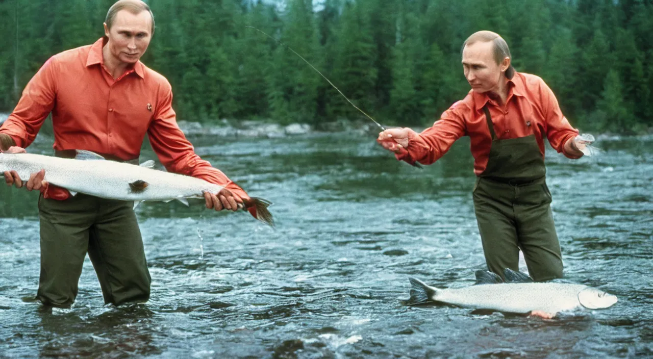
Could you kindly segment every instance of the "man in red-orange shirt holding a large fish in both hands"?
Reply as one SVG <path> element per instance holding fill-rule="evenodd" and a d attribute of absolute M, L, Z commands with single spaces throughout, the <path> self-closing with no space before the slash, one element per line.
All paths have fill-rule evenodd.
<path fill-rule="evenodd" d="M 247 193 L 195 154 L 176 123 L 168 80 L 140 62 L 154 29 L 146 3 L 121 0 L 112 5 L 103 38 L 54 55 L 29 81 L 0 128 L 0 148 L 24 152 L 50 112 L 59 157 L 86 149 L 112 161 L 138 164 L 147 134 L 169 172 L 225 187 L 219 193 L 204 193 L 206 208 L 242 209 Z M 45 305 L 71 305 L 88 252 L 106 303 L 146 302 L 151 279 L 133 204 L 71 196 L 43 179 L 44 170 L 32 174 L 27 183 L 15 171 L 5 172 L 8 185 L 41 192 L 37 298 Z M 251 213 L 256 217 L 255 211 Z"/>

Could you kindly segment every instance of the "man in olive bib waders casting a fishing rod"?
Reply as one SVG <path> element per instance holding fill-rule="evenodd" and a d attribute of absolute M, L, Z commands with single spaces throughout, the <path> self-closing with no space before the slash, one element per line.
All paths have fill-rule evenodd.
<path fill-rule="evenodd" d="M 505 40 L 479 31 L 462 46 L 468 95 L 422 133 L 387 129 L 377 142 L 407 163 L 432 164 L 454 141 L 470 136 L 477 180 L 476 219 L 488 268 L 518 270 L 521 249 L 535 281 L 562 277 L 560 243 L 545 181 L 546 137 L 552 148 L 578 159 L 590 141 L 562 115 L 545 82 L 516 72 Z"/>

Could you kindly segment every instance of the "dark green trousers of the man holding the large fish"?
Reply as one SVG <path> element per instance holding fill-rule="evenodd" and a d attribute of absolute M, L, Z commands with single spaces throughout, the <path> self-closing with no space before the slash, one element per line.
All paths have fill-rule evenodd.
<path fill-rule="evenodd" d="M 41 266 L 37 298 L 67 307 L 88 253 L 105 303 L 146 302 L 150 272 L 133 202 L 82 195 L 39 198 Z"/>

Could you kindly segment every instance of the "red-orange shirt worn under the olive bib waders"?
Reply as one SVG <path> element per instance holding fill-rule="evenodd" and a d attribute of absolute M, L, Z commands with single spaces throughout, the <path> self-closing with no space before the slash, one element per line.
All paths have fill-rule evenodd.
<path fill-rule="evenodd" d="M 432 164 L 442 157 L 455 140 L 470 136 L 471 154 L 474 157 L 474 173 L 479 176 L 485 170 L 490 154 L 492 136 L 485 119 L 483 106 L 488 105 L 494 132 L 499 140 L 519 138 L 535 134 L 542 157 L 544 138 L 552 148 L 569 158 L 578 158 L 568 152 L 565 143 L 578 135 L 562 115 L 555 95 L 545 82 L 532 74 L 516 72 L 508 81 L 509 91 L 504 106 L 490 99 L 485 93 L 470 91 L 468 95 L 446 110 L 432 127 L 408 136 L 406 150 L 397 159 L 413 163 Z"/>

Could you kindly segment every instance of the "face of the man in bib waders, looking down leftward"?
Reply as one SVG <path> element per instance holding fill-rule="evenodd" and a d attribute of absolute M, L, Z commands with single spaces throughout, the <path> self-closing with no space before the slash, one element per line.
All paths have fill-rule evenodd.
<path fill-rule="evenodd" d="M 508 69 L 510 59 L 494 61 L 494 43 L 477 41 L 462 50 L 462 69 L 471 89 L 477 93 L 498 92 L 502 72 Z"/>

